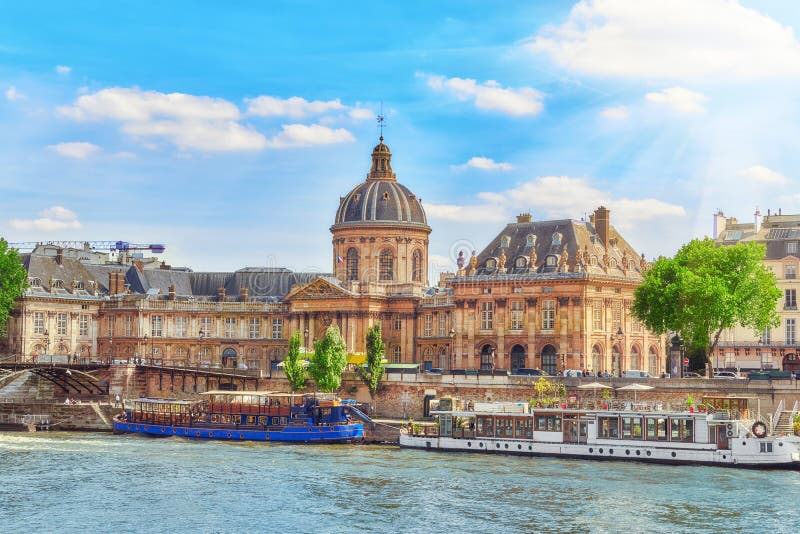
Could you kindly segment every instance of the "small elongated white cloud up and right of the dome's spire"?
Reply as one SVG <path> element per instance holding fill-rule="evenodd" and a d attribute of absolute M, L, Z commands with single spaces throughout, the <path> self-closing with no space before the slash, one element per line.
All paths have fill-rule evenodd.
<path fill-rule="evenodd" d="M 542 111 L 542 94 L 531 87 L 502 87 L 494 80 L 483 84 L 469 78 L 422 75 L 428 87 L 444 91 L 462 101 L 473 100 L 475 107 L 515 117 L 537 115 Z"/>

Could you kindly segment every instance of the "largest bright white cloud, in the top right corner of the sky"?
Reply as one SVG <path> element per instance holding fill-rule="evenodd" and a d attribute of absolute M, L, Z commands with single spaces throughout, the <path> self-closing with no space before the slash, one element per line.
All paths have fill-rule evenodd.
<path fill-rule="evenodd" d="M 587 74 L 670 79 L 800 75 L 790 26 L 736 0 L 582 0 L 526 45 Z"/>

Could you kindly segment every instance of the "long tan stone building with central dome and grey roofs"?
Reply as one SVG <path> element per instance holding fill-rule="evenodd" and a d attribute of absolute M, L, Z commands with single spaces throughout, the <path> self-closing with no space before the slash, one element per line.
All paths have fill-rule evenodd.
<path fill-rule="evenodd" d="M 367 329 L 381 321 L 393 363 L 661 372 L 663 340 L 628 313 L 646 264 L 609 210 L 598 208 L 588 221 L 520 215 L 431 287 L 431 228 L 391 157 L 381 137 L 366 179 L 339 199 L 331 274 L 202 273 L 71 251 L 26 255 L 32 283 L 11 320 L 12 351 L 265 369 L 283 359 L 294 331 L 310 351 L 337 325 L 348 351 L 363 353 Z M 66 329 L 63 313 L 74 321 Z M 64 346 L 53 346 L 53 332 L 67 332 Z"/>

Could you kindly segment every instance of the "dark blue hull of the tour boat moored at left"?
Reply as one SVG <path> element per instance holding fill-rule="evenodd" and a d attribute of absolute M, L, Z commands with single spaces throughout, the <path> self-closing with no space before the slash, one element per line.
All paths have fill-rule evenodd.
<path fill-rule="evenodd" d="M 279 430 L 253 430 L 224 427 L 169 426 L 148 423 L 114 421 L 118 433 L 146 434 L 150 436 L 180 436 L 192 439 L 225 441 L 293 441 L 300 443 L 337 443 L 360 440 L 364 425 L 350 423 L 330 426 L 287 426 Z"/>

